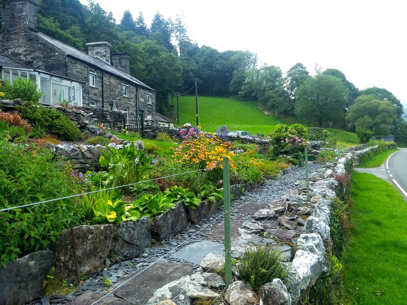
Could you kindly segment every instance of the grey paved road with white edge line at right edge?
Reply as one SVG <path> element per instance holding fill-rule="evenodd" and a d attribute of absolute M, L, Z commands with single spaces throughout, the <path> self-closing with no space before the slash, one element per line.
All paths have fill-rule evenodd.
<path fill-rule="evenodd" d="M 387 159 L 385 166 L 391 182 L 407 198 L 407 149 L 396 151 Z"/>

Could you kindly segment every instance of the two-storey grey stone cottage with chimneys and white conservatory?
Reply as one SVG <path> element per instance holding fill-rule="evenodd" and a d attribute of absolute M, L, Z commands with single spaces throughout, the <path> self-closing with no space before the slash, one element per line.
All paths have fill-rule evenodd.
<path fill-rule="evenodd" d="M 111 54 L 108 42 L 86 44 L 88 53 L 37 29 L 37 0 L 0 0 L 2 79 L 31 79 L 44 105 L 70 101 L 75 106 L 117 109 L 125 123 L 142 127 L 156 119 L 155 90 L 130 75 L 130 55 Z"/>

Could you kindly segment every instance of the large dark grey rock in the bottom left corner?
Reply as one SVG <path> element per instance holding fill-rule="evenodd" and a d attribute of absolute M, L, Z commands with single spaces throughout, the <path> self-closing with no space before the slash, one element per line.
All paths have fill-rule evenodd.
<path fill-rule="evenodd" d="M 38 251 L 0 266 L 0 304 L 30 302 L 43 289 L 42 283 L 54 264 L 52 251 Z"/>

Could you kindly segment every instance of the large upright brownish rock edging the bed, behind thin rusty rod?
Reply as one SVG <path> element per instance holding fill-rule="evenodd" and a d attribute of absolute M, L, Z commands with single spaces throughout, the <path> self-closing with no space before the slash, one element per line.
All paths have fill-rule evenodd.
<path fill-rule="evenodd" d="M 115 225 L 78 226 L 74 228 L 79 272 L 90 273 L 103 266 L 111 247 Z M 64 280 L 75 275 L 71 229 L 61 232 L 52 246 L 55 257 L 54 277 Z"/>

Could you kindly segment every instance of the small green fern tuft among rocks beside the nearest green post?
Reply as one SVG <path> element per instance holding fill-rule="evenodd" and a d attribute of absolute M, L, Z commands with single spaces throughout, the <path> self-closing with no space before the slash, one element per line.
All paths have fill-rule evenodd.
<path fill-rule="evenodd" d="M 277 248 L 247 248 L 237 264 L 238 275 L 257 290 L 261 285 L 273 282 L 273 279 L 285 280 L 290 267 L 283 266 L 281 261 Z"/>

